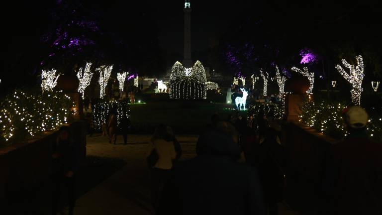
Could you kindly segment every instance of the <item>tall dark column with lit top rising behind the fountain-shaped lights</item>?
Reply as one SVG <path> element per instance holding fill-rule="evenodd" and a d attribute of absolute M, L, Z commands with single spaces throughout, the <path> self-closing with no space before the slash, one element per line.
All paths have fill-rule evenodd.
<path fill-rule="evenodd" d="M 191 59 L 191 3 L 190 0 L 185 0 L 185 38 L 184 38 L 184 53 L 183 53 L 183 65 L 186 68 L 192 66 Z"/>

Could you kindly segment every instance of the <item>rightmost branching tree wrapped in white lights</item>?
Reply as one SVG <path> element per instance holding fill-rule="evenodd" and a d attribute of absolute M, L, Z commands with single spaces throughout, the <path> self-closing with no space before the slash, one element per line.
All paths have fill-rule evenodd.
<path fill-rule="evenodd" d="M 341 65 L 337 64 L 336 69 L 341 75 L 352 84 L 353 89 L 350 91 L 352 94 L 352 102 L 354 105 L 361 105 L 361 92 L 362 89 L 362 80 L 364 79 L 364 61 L 361 55 L 357 56 L 357 66 L 349 64 L 345 59 L 342 59 L 342 63 L 345 67 L 350 70 L 350 74 L 345 72 Z"/>

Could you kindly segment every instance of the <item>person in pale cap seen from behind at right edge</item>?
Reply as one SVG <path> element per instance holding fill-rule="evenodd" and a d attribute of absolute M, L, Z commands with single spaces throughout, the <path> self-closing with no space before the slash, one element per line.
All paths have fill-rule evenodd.
<path fill-rule="evenodd" d="M 368 138 L 368 113 L 361 107 L 343 111 L 348 134 L 328 155 L 328 214 L 382 214 L 382 145 Z"/>

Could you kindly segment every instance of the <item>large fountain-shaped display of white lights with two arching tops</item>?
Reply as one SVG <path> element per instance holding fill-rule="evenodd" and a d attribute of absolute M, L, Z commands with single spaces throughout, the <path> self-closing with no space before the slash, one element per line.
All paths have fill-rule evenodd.
<path fill-rule="evenodd" d="M 200 61 L 196 61 L 192 68 L 185 68 L 177 61 L 170 73 L 170 99 L 206 99 L 206 81 Z"/>

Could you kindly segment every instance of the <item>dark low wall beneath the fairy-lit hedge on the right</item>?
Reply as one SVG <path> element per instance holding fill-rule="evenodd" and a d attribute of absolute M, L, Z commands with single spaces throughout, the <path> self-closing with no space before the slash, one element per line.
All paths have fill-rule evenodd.
<path fill-rule="evenodd" d="M 286 202 L 301 212 L 319 211 L 325 159 L 331 144 L 338 142 L 298 123 L 283 125 L 287 154 Z"/>

